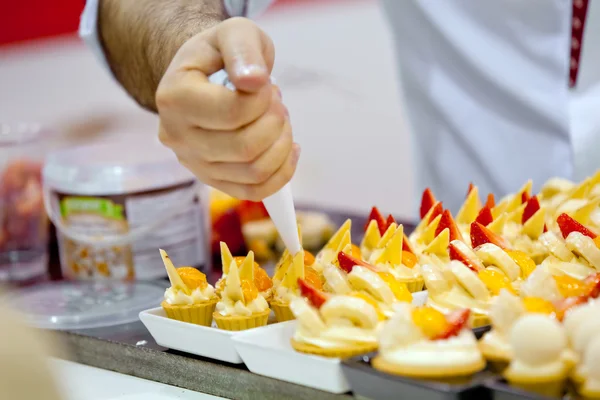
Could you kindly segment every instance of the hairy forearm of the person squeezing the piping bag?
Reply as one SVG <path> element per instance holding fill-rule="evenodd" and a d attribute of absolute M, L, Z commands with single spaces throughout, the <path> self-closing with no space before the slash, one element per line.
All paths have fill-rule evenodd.
<path fill-rule="evenodd" d="M 223 19 L 221 0 L 101 0 L 98 27 L 117 80 L 156 111 L 156 88 L 179 47 Z"/>

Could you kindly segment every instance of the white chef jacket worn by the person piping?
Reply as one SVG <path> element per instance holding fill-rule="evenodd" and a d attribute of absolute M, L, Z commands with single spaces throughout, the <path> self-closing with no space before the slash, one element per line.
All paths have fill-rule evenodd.
<path fill-rule="evenodd" d="M 96 2 L 88 1 L 81 32 L 98 49 Z M 271 2 L 225 5 L 233 16 Z M 484 195 L 503 196 L 527 179 L 536 189 L 550 177 L 581 179 L 600 167 L 600 52 L 593 51 L 600 38 L 589 34 L 600 18 L 598 2 L 590 2 L 582 55 L 574 60 L 578 82 L 569 89 L 572 10 L 579 2 L 382 0 L 417 190 L 430 187 L 456 211 L 469 182 Z"/>

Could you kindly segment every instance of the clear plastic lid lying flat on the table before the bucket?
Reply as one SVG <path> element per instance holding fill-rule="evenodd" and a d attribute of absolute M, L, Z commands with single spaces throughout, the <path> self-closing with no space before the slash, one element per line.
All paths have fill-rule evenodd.
<path fill-rule="evenodd" d="M 158 307 L 164 292 L 143 282 L 61 282 L 19 289 L 7 300 L 31 326 L 75 330 L 137 321 L 141 311 Z"/>

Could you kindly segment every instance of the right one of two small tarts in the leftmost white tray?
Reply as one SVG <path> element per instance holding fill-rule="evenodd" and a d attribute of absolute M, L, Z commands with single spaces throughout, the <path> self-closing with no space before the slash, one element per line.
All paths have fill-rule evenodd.
<path fill-rule="evenodd" d="M 267 324 L 269 304 L 254 284 L 254 253 L 250 251 L 238 267 L 231 260 L 213 319 L 220 329 L 241 331 Z"/>

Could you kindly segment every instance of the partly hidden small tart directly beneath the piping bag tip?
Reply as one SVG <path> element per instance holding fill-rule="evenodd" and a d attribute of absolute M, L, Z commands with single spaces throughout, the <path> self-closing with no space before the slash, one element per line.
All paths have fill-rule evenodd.
<path fill-rule="evenodd" d="M 275 274 L 277 277 L 281 277 L 281 281 L 275 286 L 269 304 L 275 313 L 277 322 L 290 321 L 294 319 L 290 302 L 300 294 L 298 279 L 305 278 L 304 251 L 298 252 L 294 257 L 287 253 Z"/>

